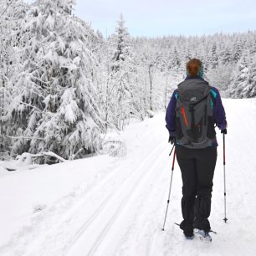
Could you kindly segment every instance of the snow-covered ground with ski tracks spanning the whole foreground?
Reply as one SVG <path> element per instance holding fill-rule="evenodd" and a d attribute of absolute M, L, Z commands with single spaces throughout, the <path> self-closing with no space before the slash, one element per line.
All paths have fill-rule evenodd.
<path fill-rule="evenodd" d="M 122 135 L 127 154 L 95 156 L 7 172 L 0 163 L 0 255 L 255 255 L 256 101 L 223 100 L 228 117 L 227 217 L 223 222 L 223 142 L 212 193 L 212 243 L 187 241 L 182 181 L 171 175 L 164 114 Z"/>

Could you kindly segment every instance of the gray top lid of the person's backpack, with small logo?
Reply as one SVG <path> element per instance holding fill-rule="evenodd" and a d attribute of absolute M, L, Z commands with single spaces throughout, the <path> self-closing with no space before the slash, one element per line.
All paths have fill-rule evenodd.
<path fill-rule="evenodd" d="M 187 79 L 178 84 L 178 95 L 184 104 L 197 104 L 210 90 L 210 85 L 203 79 Z"/>

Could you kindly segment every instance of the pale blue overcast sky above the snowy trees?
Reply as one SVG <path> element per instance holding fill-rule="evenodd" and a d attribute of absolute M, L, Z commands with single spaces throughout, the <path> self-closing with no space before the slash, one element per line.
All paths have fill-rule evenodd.
<path fill-rule="evenodd" d="M 132 36 L 256 30 L 256 0 L 76 0 L 75 13 L 104 35 L 123 14 Z"/>

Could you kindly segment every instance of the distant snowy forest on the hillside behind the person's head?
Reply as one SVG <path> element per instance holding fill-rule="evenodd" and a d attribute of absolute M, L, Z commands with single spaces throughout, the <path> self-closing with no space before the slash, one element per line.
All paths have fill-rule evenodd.
<path fill-rule="evenodd" d="M 136 38 L 137 53 L 147 45 L 161 71 L 186 74 L 187 59 L 202 59 L 205 78 L 228 97 L 256 96 L 256 33 L 216 33 L 201 37 Z M 175 81 L 176 82 L 176 81 Z M 172 83 L 172 81 L 171 81 Z M 171 84 L 169 82 L 169 84 Z"/>

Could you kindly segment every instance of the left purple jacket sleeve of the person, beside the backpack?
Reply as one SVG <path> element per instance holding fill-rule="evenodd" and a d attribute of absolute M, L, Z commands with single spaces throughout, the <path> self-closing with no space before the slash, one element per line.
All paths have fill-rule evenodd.
<path fill-rule="evenodd" d="M 176 134 L 176 103 L 177 103 L 177 90 L 174 90 L 172 98 L 166 110 L 166 128 L 171 136 Z"/>

